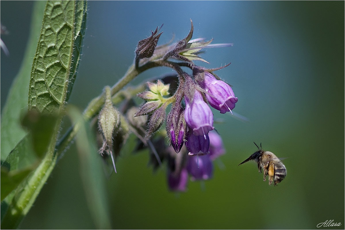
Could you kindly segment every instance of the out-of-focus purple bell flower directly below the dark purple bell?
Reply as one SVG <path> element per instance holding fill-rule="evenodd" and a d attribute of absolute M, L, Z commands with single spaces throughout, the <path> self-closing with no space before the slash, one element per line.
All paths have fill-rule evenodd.
<path fill-rule="evenodd" d="M 213 165 L 209 154 L 203 156 L 189 156 L 187 170 L 191 180 L 207 180 L 213 175 Z"/>

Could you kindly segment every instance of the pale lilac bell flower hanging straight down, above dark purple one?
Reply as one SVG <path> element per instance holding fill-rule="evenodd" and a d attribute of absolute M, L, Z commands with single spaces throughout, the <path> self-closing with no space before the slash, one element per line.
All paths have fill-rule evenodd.
<path fill-rule="evenodd" d="M 188 127 L 193 130 L 194 135 L 204 135 L 206 138 L 208 131 L 214 129 L 210 107 L 204 102 L 203 96 L 198 90 L 194 91 L 193 100 L 185 94 L 185 102 L 184 116 Z"/>

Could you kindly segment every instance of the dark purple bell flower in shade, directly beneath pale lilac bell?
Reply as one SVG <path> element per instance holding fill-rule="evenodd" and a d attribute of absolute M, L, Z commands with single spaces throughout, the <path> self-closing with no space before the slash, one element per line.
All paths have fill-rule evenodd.
<path fill-rule="evenodd" d="M 208 153 L 208 148 L 210 145 L 210 140 L 208 134 L 204 136 L 196 136 L 192 132 L 189 132 L 186 137 L 186 147 L 189 151 L 188 155 L 203 155 Z"/>

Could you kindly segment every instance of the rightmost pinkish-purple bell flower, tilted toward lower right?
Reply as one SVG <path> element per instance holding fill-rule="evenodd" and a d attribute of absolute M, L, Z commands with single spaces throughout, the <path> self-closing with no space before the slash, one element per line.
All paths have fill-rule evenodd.
<path fill-rule="evenodd" d="M 227 83 L 217 80 L 211 73 L 205 71 L 205 77 L 198 83 L 208 93 L 206 98 L 208 103 L 220 113 L 231 112 L 238 101 L 233 89 Z"/>

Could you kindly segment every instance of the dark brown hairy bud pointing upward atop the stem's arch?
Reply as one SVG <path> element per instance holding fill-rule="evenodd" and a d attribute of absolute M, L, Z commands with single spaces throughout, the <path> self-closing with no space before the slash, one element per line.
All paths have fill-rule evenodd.
<path fill-rule="evenodd" d="M 156 49 L 158 39 L 163 32 L 158 33 L 158 27 L 155 32 L 151 31 L 151 36 L 146 39 L 140 40 L 135 50 L 136 57 L 142 59 L 144 57 L 151 57 Z"/>

